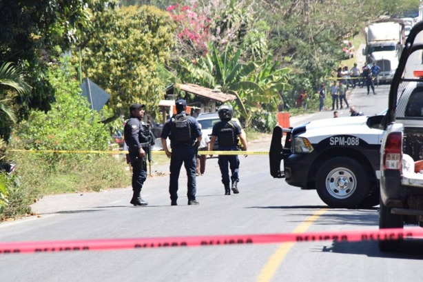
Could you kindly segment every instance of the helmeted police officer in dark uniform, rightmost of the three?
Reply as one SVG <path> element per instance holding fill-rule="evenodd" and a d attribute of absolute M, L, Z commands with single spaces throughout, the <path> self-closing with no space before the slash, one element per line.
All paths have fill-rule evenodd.
<path fill-rule="evenodd" d="M 214 147 L 216 138 L 219 141 L 218 150 L 220 151 L 236 151 L 238 150 L 238 138 L 243 145 L 243 150 L 247 150 L 247 140 L 240 126 L 236 121 L 232 119 L 232 107 L 230 105 L 221 105 L 218 110 L 220 121 L 213 126 L 211 131 L 210 148 Z M 231 170 L 231 177 L 229 179 L 229 168 Z M 218 164 L 220 173 L 222 174 L 222 183 L 225 186 L 225 195 L 230 195 L 231 190 L 229 187 L 230 181 L 232 181 L 232 191 L 234 194 L 238 194 L 238 181 L 239 181 L 239 159 L 238 155 L 224 155 L 220 154 L 218 157 Z"/>

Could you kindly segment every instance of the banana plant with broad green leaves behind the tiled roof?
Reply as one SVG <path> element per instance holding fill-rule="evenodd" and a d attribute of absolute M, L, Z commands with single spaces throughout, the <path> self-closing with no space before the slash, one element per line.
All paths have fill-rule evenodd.
<path fill-rule="evenodd" d="M 290 70 L 279 68 L 278 62 L 272 63 L 271 54 L 262 61 L 244 62 L 243 51 L 243 46 L 227 46 L 220 53 L 211 46 L 209 54 L 194 63 L 180 60 L 180 75 L 184 81 L 236 95 L 232 106 L 248 126 L 263 105 L 272 103 L 270 108 L 276 108 L 280 103 L 279 92 L 290 87 Z"/>

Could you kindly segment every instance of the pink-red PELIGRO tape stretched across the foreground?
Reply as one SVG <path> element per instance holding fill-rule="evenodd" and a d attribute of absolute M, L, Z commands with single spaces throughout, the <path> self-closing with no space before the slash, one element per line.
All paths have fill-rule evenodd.
<path fill-rule="evenodd" d="M 72 252 L 92 250 L 127 250 L 138 248 L 196 247 L 204 245 L 245 245 L 311 241 L 373 241 L 422 237 L 423 228 L 354 230 L 342 232 L 305 232 L 280 234 L 180 236 L 138 239 L 101 239 L 74 241 L 1 242 L 0 254 L 34 252 Z"/>

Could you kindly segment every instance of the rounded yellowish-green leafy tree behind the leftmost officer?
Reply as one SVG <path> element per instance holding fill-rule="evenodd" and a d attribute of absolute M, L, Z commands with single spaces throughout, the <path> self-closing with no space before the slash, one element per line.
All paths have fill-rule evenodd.
<path fill-rule="evenodd" d="M 152 109 L 165 85 L 158 66 L 166 65 L 174 43 L 174 26 L 167 12 L 152 6 L 130 6 L 95 14 L 96 31 L 82 46 L 83 74 L 110 94 L 114 118 L 130 103 Z"/>

